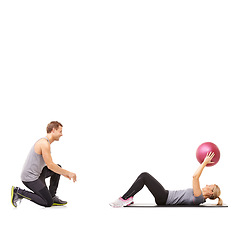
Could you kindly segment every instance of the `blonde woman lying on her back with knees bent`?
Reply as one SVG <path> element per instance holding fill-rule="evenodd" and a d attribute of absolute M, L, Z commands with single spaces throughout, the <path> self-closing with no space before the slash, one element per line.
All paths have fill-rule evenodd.
<path fill-rule="evenodd" d="M 199 178 L 203 169 L 214 157 L 214 152 L 209 152 L 203 163 L 199 166 L 193 175 L 192 186 L 186 190 L 168 191 L 149 173 L 142 173 L 138 176 L 137 180 L 133 183 L 130 189 L 115 202 L 110 203 L 112 207 L 124 207 L 133 203 L 133 196 L 138 193 L 144 185 L 147 186 L 149 191 L 155 198 L 157 205 L 198 205 L 204 203 L 206 199 L 218 198 L 218 205 L 222 205 L 222 199 L 219 197 L 221 194 L 220 188 L 214 185 L 207 185 L 205 188 L 200 188 Z"/>

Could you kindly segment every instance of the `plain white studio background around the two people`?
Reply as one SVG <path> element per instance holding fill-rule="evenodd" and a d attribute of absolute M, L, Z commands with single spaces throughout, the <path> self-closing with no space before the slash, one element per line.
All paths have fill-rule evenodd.
<path fill-rule="evenodd" d="M 1 1 L 1 235 L 237 236 L 239 11 L 238 1 Z M 24 160 L 52 120 L 64 126 L 53 160 L 78 181 L 61 179 L 66 207 L 15 209 L 10 188 L 24 187 Z M 229 208 L 108 205 L 143 171 L 191 187 L 205 141 L 221 159 L 201 185 L 218 184 Z M 154 200 L 144 188 L 135 202 Z"/>

